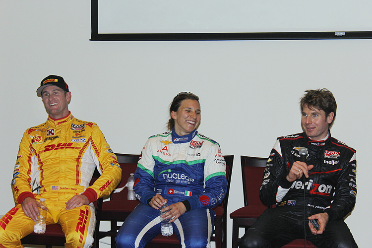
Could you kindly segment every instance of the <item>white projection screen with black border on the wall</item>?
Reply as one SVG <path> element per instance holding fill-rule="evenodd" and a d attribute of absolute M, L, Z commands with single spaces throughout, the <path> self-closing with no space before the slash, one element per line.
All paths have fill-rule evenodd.
<path fill-rule="evenodd" d="M 370 39 L 371 0 L 91 0 L 91 40 Z"/>

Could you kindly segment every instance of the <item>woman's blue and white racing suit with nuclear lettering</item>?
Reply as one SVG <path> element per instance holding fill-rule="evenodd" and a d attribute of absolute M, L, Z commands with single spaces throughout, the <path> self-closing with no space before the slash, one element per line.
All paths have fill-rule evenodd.
<path fill-rule="evenodd" d="M 217 142 L 195 129 L 151 136 L 135 172 L 134 192 L 141 203 L 126 218 L 117 247 L 145 247 L 161 232 L 159 210 L 148 205 L 156 194 L 168 205 L 183 202 L 187 211 L 172 223 L 185 247 L 210 247 L 215 213 L 227 190 L 226 163 Z"/>

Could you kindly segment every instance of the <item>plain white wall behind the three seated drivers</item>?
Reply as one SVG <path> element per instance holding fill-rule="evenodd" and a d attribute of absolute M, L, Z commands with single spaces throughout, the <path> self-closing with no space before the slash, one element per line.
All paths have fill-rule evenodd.
<path fill-rule="evenodd" d="M 277 136 L 301 132 L 299 98 L 325 87 L 338 104 L 332 135 L 358 151 L 357 204 L 346 222 L 359 246 L 369 246 L 372 40 L 89 38 L 89 0 L 1 1 L 0 215 L 14 204 L 10 182 L 23 132 L 47 119 L 36 88 L 49 74 L 68 83 L 73 115 L 96 122 L 120 153 L 139 153 L 148 136 L 165 130 L 178 92 L 197 94 L 199 131 L 235 155 L 228 213 L 244 205 L 240 155 L 267 157 Z"/>

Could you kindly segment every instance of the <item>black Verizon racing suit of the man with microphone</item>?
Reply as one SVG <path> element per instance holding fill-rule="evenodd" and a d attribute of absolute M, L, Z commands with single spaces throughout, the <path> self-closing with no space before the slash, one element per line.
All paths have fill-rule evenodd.
<path fill-rule="evenodd" d="M 335 243 L 333 231 L 339 234 L 337 239 L 346 237 L 348 244 L 355 244 L 343 218 L 355 205 L 356 151 L 328 133 L 323 141 L 311 140 L 305 132 L 277 138 L 266 162 L 260 189 L 262 203 L 276 207 L 265 210 L 249 228 L 243 247 L 281 247 L 291 240 L 304 238 L 304 224 L 307 239 L 317 247 Z M 306 163 L 314 166 L 309 178 L 305 178 L 306 220 L 303 178 L 294 182 L 286 179 L 293 163 L 300 160 L 301 147 L 308 149 Z M 329 215 L 326 230 L 322 235 L 311 235 L 307 217 L 322 212 Z M 252 243 L 261 245 L 252 246 Z"/>

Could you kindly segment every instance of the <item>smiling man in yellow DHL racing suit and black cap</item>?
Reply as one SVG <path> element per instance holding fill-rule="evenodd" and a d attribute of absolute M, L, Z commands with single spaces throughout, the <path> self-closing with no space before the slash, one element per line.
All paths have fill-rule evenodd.
<path fill-rule="evenodd" d="M 89 248 L 96 223 L 92 202 L 119 184 L 121 168 L 97 124 L 68 111 L 71 92 L 62 77 L 46 77 L 37 93 L 49 117 L 21 140 L 11 182 L 16 205 L 0 219 L 0 248 L 23 248 L 20 239 L 34 230 L 40 198 L 48 206 L 46 224 L 61 225 L 65 247 Z M 89 186 L 95 168 L 101 176 Z"/>

